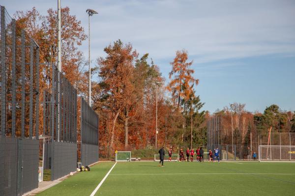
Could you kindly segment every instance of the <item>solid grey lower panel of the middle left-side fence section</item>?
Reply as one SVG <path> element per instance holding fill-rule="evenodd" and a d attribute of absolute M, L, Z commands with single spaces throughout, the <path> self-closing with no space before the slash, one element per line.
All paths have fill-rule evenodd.
<path fill-rule="evenodd" d="M 77 167 L 77 143 L 52 141 L 51 180 L 59 179 Z"/>

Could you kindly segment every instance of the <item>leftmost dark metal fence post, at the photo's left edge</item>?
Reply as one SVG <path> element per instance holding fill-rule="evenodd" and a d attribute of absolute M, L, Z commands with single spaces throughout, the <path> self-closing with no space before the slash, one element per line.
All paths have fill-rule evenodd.
<path fill-rule="evenodd" d="M 1 135 L 6 134 L 5 8 L 1 6 Z"/>

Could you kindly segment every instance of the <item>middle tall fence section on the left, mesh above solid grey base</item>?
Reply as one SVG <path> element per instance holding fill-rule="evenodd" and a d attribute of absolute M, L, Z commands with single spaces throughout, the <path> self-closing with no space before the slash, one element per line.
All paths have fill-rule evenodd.
<path fill-rule="evenodd" d="M 44 145 L 44 157 L 55 180 L 76 169 L 77 90 L 54 64 L 50 67 L 51 85 L 43 92 L 43 134 L 51 140 Z"/>

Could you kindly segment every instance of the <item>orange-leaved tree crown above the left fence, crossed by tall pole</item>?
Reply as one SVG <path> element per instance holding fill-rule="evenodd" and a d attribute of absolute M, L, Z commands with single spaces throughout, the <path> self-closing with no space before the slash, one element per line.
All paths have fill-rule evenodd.
<path fill-rule="evenodd" d="M 26 30 L 40 47 L 40 63 L 56 63 L 58 55 L 58 20 L 57 11 L 50 8 L 47 15 L 42 16 L 35 9 L 27 12 L 17 11 L 17 27 Z M 81 21 L 75 15 L 70 14 L 69 7 L 61 8 L 61 70 L 66 78 L 81 93 L 86 89 L 84 84 L 87 81 L 84 72 L 86 64 L 83 53 L 77 46 L 87 38 Z M 43 77 L 47 80 L 50 77 L 50 66 L 41 66 Z M 40 83 L 40 87 L 45 85 Z M 40 90 L 41 91 L 41 90 Z"/>

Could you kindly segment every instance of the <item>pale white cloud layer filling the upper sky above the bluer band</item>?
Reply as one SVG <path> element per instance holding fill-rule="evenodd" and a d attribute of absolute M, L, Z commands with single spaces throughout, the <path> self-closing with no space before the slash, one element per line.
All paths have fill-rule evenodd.
<path fill-rule="evenodd" d="M 57 2 L 7 1 L 10 11 L 36 6 L 41 12 Z M 122 39 L 157 61 L 173 59 L 176 50 L 189 51 L 195 62 L 269 54 L 295 54 L 293 0 L 62 0 L 88 33 L 91 17 L 91 56 Z M 3 3 L 5 4 L 5 3 Z M 15 6 L 19 5 L 19 6 Z M 13 10 L 15 9 L 15 10 Z M 88 53 L 88 41 L 81 49 Z M 167 62 L 169 63 L 169 62 Z M 161 66 L 161 65 L 160 65 Z"/>

